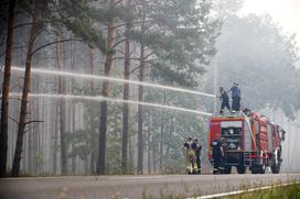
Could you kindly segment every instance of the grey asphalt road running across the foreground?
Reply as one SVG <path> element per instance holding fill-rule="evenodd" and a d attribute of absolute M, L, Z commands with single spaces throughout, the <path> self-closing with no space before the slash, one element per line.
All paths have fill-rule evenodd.
<path fill-rule="evenodd" d="M 0 199 L 186 198 L 290 181 L 300 173 L 6 178 Z"/>

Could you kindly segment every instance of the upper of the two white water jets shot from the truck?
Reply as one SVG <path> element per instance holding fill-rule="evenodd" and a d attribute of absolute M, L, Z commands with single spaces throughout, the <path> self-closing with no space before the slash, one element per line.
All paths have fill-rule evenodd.
<path fill-rule="evenodd" d="M 15 71 L 24 71 L 25 70 L 24 68 L 20 68 L 20 67 L 15 67 L 15 66 L 12 66 L 11 69 L 15 70 Z M 87 75 L 87 74 L 76 74 L 76 73 L 69 73 L 69 71 L 50 70 L 50 69 L 36 69 L 36 68 L 32 68 L 31 71 L 33 74 L 46 74 L 46 75 L 77 77 L 77 78 L 85 78 L 85 79 L 108 80 L 108 81 L 115 81 L 115 82 L 127 82 L 127 84 L 131 84 L 131 85 L 152 87 L 152 88 L 160 88 L 160 89 L 179 91 L 179 92 L 184 92 L 184 93 L 192 93 L 192 95 L 196 95 L 196 96 L 205 96 L 205 97 L 216 98 L 215 95 L 211 95 L 211 93 L 199 92 L 199 91 L 194 91 L 194 90 L 189 90 L 189 89 L 183 89 L 183 88 L 175 88 L 175 87 L 163 86 L 163 85 L 151 84 L 151 82 L 126 80 L 126 79 L 120 79 L 120 78 L 115 78 L 115 77 Z"/>

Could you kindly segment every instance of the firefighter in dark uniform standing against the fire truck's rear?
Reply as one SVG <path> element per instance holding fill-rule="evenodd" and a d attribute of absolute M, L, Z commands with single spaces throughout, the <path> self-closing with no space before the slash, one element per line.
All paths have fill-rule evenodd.
<path fill-rule="evenodd" d="M 214 159 L 214 174 L 224 173 L 224 151 L 222 143 L 218 139 L 212 142 L 213 147 L 213 159 Z"/>

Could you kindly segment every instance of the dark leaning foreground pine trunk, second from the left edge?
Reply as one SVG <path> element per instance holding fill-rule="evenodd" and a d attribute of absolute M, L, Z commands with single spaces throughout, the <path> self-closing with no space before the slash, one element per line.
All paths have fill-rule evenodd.
<path fill-rule="evenodd" d="M 26 122 L 26 111 L 28 111 L 28 93 L 29 93 L 30 81 L 31 81 L 31 62 L 32 62 L 34 37 L 36 32 L 38 14 L 39 14 L 39 0 L 35 0 L 34 15 L 32 19 L 32 25 L 30 30 L 30 38 L 29 38 L 29 45 L 28 45 L 25 77 L 24 77 L 23 91 L 22 91 L 19 129 L 18 129 L 18 135 L 17 135 L 17 142 L 15 142 L 15 152 L 14 152 L 14 158 L 12 164 L 12 170 L 11 170 L 11 175 L 13 177 L 20 176 L 20 163 L 21 163 L 21 154 L 22 154 L 22 147 L 23 147 L 23 135 L 25 133 L 25 125 L 26 125 L 25 122 Z"/>

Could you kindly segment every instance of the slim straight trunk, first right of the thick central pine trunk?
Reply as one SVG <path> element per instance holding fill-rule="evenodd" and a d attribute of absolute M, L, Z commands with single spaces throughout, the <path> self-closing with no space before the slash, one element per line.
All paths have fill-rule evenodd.
<path fill-rule="evenodd" d="M 131 4 L 131 0 L 127 1 L 127 8 Z M 128 31 L 130 23 L 126 23 L 126 30 Z M 124 78 L 129 80 L 130 75 L 130 41 L 126 36 L 125 41 L 125 63 L 124 63 Z M 129 100 L 129 84 L 124 84 L 124 100 Z M 129 122 L 129 106 L 128 103 L 122 104 L 122 150 L 121 150 L 121 168 L 122 173 L 126 174 L 128 170 L 128 122 Z"/>

